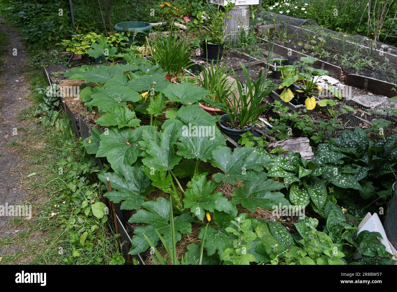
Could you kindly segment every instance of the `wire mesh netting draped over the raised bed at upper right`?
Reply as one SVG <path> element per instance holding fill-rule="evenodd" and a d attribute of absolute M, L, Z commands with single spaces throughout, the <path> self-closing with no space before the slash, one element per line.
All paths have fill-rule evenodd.
<path fill-rule="evenodd" d="M 397 48 L 362 36 L 346 35 L 320 27 L 312 19 L 262 11 L 254 29 L 275 44 L 274 54 L 287 57 L 285 48 L 334 64 L 346 73 L 397 83 Z M 282 48 L 282 47 L 285 48 Z M 292 51 L 293 50 L 293 51 Z"/>

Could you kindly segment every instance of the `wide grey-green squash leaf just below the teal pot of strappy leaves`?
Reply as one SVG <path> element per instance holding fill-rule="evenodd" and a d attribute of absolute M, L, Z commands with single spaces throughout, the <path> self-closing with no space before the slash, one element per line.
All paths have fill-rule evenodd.
<path fill-rule="evenodd" d="M 212 157 L 219 168 L 224 172 L 212 176 L 216 182 L 228 182 L 236 184 L 236 180 L 249 181 L 257 180 L 258 174 L 250 171 L 262 171 L 263 166 L 270 162 L 270 159 L 253 148 L 235 148 L 233 153 L 229 147 L 221 147 L 212 151 Z"/>

